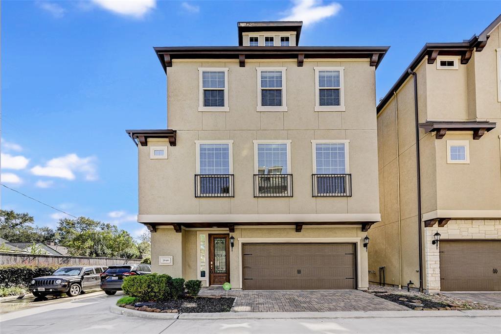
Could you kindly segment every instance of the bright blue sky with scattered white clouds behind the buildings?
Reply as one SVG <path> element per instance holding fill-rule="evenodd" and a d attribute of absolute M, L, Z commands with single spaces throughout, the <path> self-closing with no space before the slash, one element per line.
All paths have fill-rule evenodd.
<path fill-rule="evenodd" d="M 498 1 L 3 1 L 2 182 L 137 235 L 137 150 L 124 130 L 166 126 L 153 46 L 236 45 L 237 21 L 303 20 L 303 46 L 391 46 L 379 99 L 424 43 L 468 39 L 499 13 Z M 41 226 L 64 216 L 5 188 L 2 208 Z"/>

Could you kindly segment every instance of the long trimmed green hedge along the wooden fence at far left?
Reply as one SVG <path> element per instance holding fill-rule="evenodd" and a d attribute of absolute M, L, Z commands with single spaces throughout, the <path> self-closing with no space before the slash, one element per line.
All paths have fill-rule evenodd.
<path fill-rule="evenodd" d="M 52 275 L 61 266 L 55 265 L 27 265 L 6 264 L 0 265 L 0 285 L 28 286 L 35 277 Z"/>

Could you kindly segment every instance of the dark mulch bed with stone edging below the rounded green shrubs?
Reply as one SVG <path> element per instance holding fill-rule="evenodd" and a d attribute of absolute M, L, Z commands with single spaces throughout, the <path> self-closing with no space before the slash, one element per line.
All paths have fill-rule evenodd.
<path fill-rule="evenodd" d="M 211 297 L 183 297 L 177 300 L 169 299 L 158 301 L 152 305 L 134 307 L 133 305 L 119 305 L 139 311 L 155 313 L 215 313 L 229 312 L 235 298 L 211 298 Z"/>

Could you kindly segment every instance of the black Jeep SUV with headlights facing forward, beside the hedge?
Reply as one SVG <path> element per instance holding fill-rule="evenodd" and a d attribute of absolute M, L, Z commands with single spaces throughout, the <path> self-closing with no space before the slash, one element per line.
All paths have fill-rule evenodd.
<path fill-rule="evenodd" d="M 37 277 L 30 282 L 30 292 L 35 297 L 66 293 L 78 296 L 83 290 L 99 288 L 101 274 L 106 267 L 61 267 L 50 276 Z"/>

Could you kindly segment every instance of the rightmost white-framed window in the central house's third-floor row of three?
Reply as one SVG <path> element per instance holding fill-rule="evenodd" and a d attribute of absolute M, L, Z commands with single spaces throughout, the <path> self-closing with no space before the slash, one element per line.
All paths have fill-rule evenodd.
<path fill-rule="evenodd" d="M 315 67 L 315 111 L 345 111 L 344 67 Z"/>

